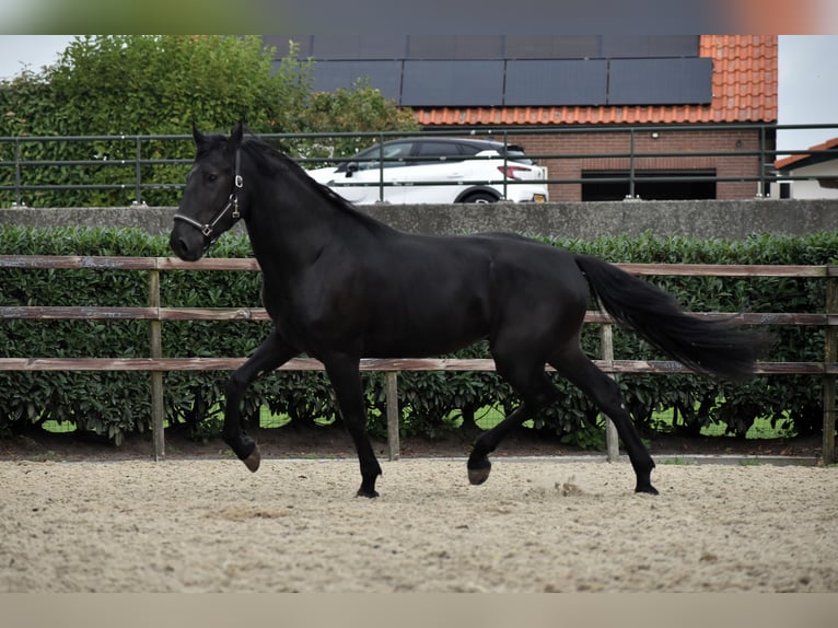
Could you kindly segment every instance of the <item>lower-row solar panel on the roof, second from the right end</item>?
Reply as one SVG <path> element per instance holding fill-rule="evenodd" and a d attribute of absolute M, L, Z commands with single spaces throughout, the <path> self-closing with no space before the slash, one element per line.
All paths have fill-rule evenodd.
<path fill-rule="evenodd" d="M 507 62 L 507 106 L 604 105 L 608 62 L 525 60 Z"/>

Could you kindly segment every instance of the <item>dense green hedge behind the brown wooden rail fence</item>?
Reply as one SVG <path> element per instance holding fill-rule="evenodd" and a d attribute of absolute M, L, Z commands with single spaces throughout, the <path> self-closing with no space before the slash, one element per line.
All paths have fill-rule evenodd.
<path fill-rule="evenodd" d="M 696 264 L 827 264 L 838 252 L 838 234 L 806 237 L 754 236 L 742 242 L 683 237 L 617 237 L 592 242 L 550 241 L 612 261 Z M 137 230 L 0 228 L 0 251 L 11 255 L 168 256 L 165 236 Z M 216 257 L 251 255 L 244 234 L 228 234 L 212 249 Z M 657 277 L 694 311 L 823 312 L 825 282 L 820 279 Z M 256 272 L 166 271 L 161 294 L 166 307 L 258 307 L 260 278 Z M 2 305 L 142 306 L 148 300 L 148 276 L 128 270 L 0 269 Z M 267 336 L 269 323 L 165 322 L 165 357 L 248 356 Z M 813 327 L 777 326 L 772 361 L 819 361 L 824 334 Z M 120 321 L 4 321 L 0 344 L 5 357 L 146 357 L 148 325 Z M 598 327 L 585 329 L 585 350 L 600 354 Z M 488 357 L 476 345 L 456 357 Z M 615 329 L 617 359 L 662 358 L 631 333 Z M 164 376 L 166 419 L 171 426 L 201 431 L 201 421 L 223 402 L 226 372 L 172 372 Z M 804 375 L 759 376 L 744 386 L 719 384 L 692 375 L 621 375 L 626 404 L 640 429 L 660 426 L 653 412 L 675 410 L 677 428 L 698 432 L 718 422 L 744 433 L 755 417 L 768 417 L 799 434 L 822 427 L 820 386 Z M 548 408 L 536 427 L 558 432 L 569 442 L 596 445 L 591 426 L 597 412 L 577 388 L 557 377 L 565 396 Z M 384 376 L 368 375 L 370 429 L 384 433 Z M 472 428 L 475 414 L 486 406 L 514 407 L 512 391 L 493 373 L 405 372 L 399 375 L 399 404 L 405 434 L 434 435 L 452 429 L 462 417 Z M 249 391 L 244 411 L 258 416 L 267 406 L 292 421 L 311 423 L 335 416 L 328 382 L 321 373 L 280 372 L 260 380 Z M 0 373 L 0 433 L 42 426 L 47 420 L 69 422 L 80 430 L 121 442 L 126 434 L 150 427 L 150 377 L 135 372 L 3 372 Z M 216 422 L 217 418 L 213 419 Z M 203 423 L 206 427 L 209 423 Z"/>

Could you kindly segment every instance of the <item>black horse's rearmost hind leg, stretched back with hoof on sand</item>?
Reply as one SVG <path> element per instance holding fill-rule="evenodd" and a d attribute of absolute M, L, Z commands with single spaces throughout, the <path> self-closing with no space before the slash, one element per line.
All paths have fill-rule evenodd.
<path fill-rule="evenodd" d="M 651 479 L 654 461 L 631 421 L 617 383 L 597 369 L 579 347 L 565 351 L 549 360 L 549 363 L 568 381 L 579 386 L 614 421 L 617 433 L 626 446 L 631 466 L 635 468 L 637 476 L 635 491 L 657 495 L 657 489 L 652 486 Z"/>

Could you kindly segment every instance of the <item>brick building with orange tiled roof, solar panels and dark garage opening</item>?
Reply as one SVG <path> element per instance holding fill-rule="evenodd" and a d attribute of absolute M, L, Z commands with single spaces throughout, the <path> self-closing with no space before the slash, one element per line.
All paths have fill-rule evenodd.
<path fill-rule="evenodd" d="M 265 36 L 280 56 L 289 38 L 316 61 L 317 90 L 365 75 L 423 129 L 514 132 L 543 155 L 557 182 L 551 200 L 765 191 L 757 177 L 776 142 L 773 35 Z M 629 174 L 639 177 L 633 188 Z"/>

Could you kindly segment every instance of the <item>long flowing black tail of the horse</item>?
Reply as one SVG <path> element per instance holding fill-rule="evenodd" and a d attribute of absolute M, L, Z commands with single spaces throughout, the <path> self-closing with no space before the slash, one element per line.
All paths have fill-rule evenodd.
<path fill-rule="evenodd" d="M 747 379 L 756 360 L 770 347 L 768 335 L 686 314 L 671 294 L 651 283 L 602 259 L 574 257 L 608 314 L 696 372 Z"/>

